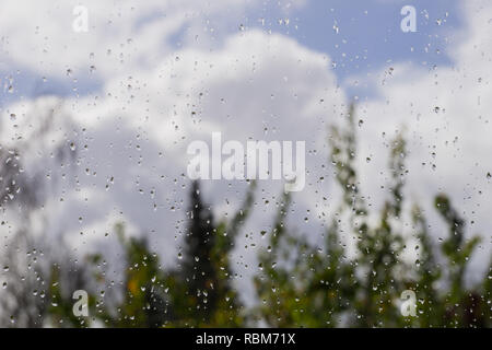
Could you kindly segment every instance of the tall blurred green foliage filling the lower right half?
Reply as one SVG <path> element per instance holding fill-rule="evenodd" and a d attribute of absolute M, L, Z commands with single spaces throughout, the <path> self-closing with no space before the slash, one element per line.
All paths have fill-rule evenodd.
<path fill-rule="evenodd" d="M 465 240 L 465 221 L 446 196 L 435 198 L 435 208 L 449 231 L 441 245 L 445 266 L 436 262 L 438 255 L 418 207 L 409 215 L 419 259 L 409 264 L 402 258 L 407 244 L 401 224 L 407 170 L 401 135 L 390 148 L 389 196 L 379 212 L 368 210 L 355 167 L 353 113 L 351 107 L 345 128 L 332 127 L 330 131 L 331 162 L 342 197 L 325 245 L 316 248 L 305 237 L 288 232 L 289 197 L 284 197 L 269 246 L 259 257 L 263 270 L 255 279 L 260 300 L 257 318 L 271 327 L 490 327 L 490 271 L 483 285 L 467 289 L 465 271 L 479 240 Z M 378 222 L 370 224 L 370 217 L 379 218 Z M 356 237 L 353 258 L 348 258 L 340 237 L 344 218 L 350 235 Z M 405 290 L 417 294 L 415 316 L 402 316 L 399 310 Z"/>

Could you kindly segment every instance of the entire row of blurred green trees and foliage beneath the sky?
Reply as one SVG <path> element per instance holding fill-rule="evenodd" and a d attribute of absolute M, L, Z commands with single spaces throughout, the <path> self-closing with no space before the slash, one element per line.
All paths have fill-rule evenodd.
<path fill-rule="evenodd" d="M 424 211 L 403 196 L 408 171 L 402 135 L 389 147 L 383 187 L 387 198 L 379 209 L 368 205 L 356 167 L 355 130 L 353 106 L 347 124 L 330 129 L 330 160 L 341 197 L 321 244 L 313 243 L 315 232 L 300 235 L 288 226 L 290 195 L 277 201 L 273 229 L 261 232 L 266 244 L 258 254 L 253 308 L 242 304 L 234 288 L 231 255 L 254 208 L 255 183 L 248 183 L 237 212 L 221 221 L 194 183 L 183 249 L 165 269 L 145 236 L 127 236 L 124 224 L 115 228 L 122 258 L 110 269 L 119 273 L 116 278 L 102 255 L 89 255 L 80 264 L 63 250 L 63 258 L 49 259 L 44 268 L 33 248 L 37 243 L 20 232 L 8 252 L 13 282 L 0 305 L 19 325 L 32 327 L 490 327 L 492 261 L 481 283 L 465 281 L 478 236 L 466 236 L 465 219 L 438 194 L 434 208 L 447 232 L 440 235 L 442 242 L 431 240 Z M 5 174 L 15 172 L 14 166 Z M 7 190 L 0 194 L 4 205 Z M 406 218 L 410 225 L 403 225 Z M 414 243 L 415 261 L 406 257 L 409 243 Z M 35 276 L 25 279 L 24 266 L 34 266 Z M 71 293 L 79 289 L 89 292 L 90 317 L 73 315 Z M 32 298 L 33 290 L 39 298 Z M 400 312 L 406 290 L 417 294 L 415 316 Z"/>

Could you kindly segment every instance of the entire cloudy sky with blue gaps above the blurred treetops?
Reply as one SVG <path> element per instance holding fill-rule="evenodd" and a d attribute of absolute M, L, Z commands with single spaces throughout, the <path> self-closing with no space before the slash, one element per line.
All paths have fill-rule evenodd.
<path fill-rule="evenodd" d="M 72 30 L 77 5 L 89 11 L 87 32 Z M 403 5 L 417 9 L 415 33 L 400 28 Z M 491 19 L 485 0 L 4 0 L 1 144 L 32 144 L 26 167 L 50 190 L 39 231 L 83 253 L 114 243 L 105 233 L 124 221 L 172 265 L 185 230 L 189 142 L 209 142 L 213 131 L 241 142 L 305 141 L 306 188 L 294 195 L 290 220 L 316 242 L 339 196 L 328 127 L 355 102 L 371 205 L 387 196 L 388 143 L 403 131 L 406 194 L 425 209 L 435 238 L 443 230 L 430 195 L 440 191 L 468 219 L 467 234 L 482 235 L 472 279 L 491 255 Z M 39 139 L 45 118 L 56 127 Z M 52 152 L 72 142 L 73 159 L 60 166 Z M 239 180 L 203 186 L 218 218 L 232 215 L 247 188 Z M 246 233 L 269 231 L 281 189 L 259 183 L 234 253 L 248 295 L 250 244 L 261 238 Z M 15 213 L 3 215 L 14 228 Z M 411 235 L 408 219 L 401 223 Z"/>

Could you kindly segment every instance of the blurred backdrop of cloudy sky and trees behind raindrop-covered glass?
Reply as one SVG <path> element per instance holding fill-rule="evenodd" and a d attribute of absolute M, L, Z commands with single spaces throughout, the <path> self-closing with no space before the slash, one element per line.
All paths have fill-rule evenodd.
<path fill-rule="evenodd" d="M 3 0 L 0 326 L 490 327 L 491 19 Z M 305 188 L 194 183 L 214 131 L 305 141 Z"/>

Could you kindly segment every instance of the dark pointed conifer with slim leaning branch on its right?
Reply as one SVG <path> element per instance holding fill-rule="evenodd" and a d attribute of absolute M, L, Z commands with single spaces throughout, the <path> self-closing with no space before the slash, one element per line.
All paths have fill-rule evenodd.
<path fill-rule="evenodd" d="M 253 206 L 250 185 L 246 200 L 233 219 L 214 224 L 210 207 L 201 199 L 198 182 L 190 192 L 189 226 L 183 264 L 169 275 L 174 319 L 166 326 L 238 327 L 242 305 L 233 287 L 230 252 Z"/>

